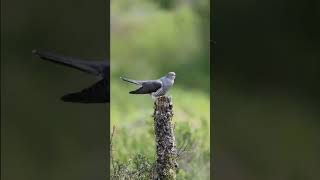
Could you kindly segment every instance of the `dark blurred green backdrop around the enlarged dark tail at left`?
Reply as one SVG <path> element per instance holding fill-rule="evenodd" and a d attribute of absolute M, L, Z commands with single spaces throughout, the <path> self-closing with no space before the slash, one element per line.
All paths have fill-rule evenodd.
<path fill-rule="evenodd" d="M 106 179 L 109 106 L 60 101 L 95 82 L 34 48 L 104 59 L 106 2 L 1 0 L 1 179 Z"/>

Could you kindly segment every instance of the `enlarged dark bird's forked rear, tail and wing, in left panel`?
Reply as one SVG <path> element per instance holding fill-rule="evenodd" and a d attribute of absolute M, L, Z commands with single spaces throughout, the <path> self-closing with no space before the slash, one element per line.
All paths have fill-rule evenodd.
<path fill-rule="evenodd" d="M 109 103 L 110 102 L 110 63 L 108 60 L 89 61 L 67 57 L 48 50 L 34 49 L 32 53 L 43 60 L 78 69 L 97 77 L 97 82 L 81 91 L 68 93 L 61 97 L 64 102 L 72 103 Z"/>

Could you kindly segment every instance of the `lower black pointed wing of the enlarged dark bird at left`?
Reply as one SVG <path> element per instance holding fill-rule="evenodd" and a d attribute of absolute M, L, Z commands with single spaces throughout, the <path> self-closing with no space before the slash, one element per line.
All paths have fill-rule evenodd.
<path fill-rule="evenodd" d="M 107 79 L 102 79 L 80 92 L 61 97 L 62 101 L 74 103 L 106 103 L 110 102 L 110 88 Z"/>

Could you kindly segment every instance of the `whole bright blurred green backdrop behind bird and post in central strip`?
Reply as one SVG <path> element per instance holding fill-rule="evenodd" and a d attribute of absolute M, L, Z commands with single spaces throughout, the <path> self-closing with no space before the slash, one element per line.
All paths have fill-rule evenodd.
<path fill-rule="evenodd" d="M 174 103 L 178 179 L 210 178 L 210 1 L 111 1 L 111 126 L 114 159 L 155 160 L 153 100 L 119 77 L 157 79 L 177 74 Z"/>

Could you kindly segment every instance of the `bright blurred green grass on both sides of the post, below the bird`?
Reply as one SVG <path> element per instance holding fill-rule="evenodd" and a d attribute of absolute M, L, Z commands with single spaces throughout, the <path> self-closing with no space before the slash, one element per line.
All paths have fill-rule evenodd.
<path fill-rule="evenodd" d="M 114 103 L 111 106 L 111 126 L 116 126 L 117 129 L 113 137 L 113 157 L 126 162 L 135 154 L 143 154 L 150 165 L 150 162 L 155 161 L 153 101 L 148 95 L 128 94 L 128 86 L 117 79 L 113 80 L 111 86 L 111 93 L 115 94 L 112 97 Z M 174 87 L 170 94 L 174 103 L 173 121 L 177 147 L 187 145 L 186 151 L 178 160 L 180 170 L 177 177 L 209 179 L 209 96 L 201 91 L 189 92 L 179 87 Z"/>

